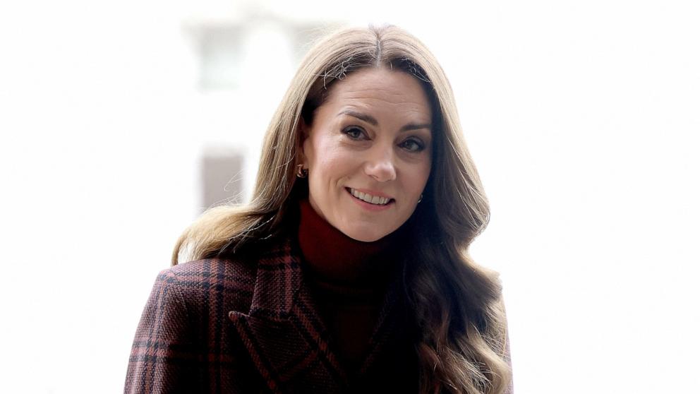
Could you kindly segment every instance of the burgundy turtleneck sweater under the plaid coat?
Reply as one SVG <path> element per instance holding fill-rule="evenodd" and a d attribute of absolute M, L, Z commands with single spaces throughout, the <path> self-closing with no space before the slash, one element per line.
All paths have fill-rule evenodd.
<path fill-rule="evenodd" d="M 298 241 L 310 285 L 334 348 L 349 376 L 360 369 L 396 260 L 400 235 L 357 241 L 303 200 Z"/>

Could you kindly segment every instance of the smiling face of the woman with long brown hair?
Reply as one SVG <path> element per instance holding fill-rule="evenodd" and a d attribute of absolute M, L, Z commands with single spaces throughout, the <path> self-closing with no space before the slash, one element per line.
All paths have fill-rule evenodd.
<path fill-rule="evenodd" d="M 428 181 L 432 114 L 413 76 L 363 68 L 304 125 L 309 202 L 333 227 L 376 241 L 409 219 Z"/>

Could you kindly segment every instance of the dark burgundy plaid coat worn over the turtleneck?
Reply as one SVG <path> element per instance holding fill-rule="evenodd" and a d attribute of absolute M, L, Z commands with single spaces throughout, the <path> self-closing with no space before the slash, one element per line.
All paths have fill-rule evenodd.
<path fill-rule="evenodd" d="M 390 285 L 358 376 L 346 375 L 290 239 L 162 271 L 136 331 L 125 393 L 411 393 L 416 355 Z M 399 275 L 396 275 L 397 278 Z"/>

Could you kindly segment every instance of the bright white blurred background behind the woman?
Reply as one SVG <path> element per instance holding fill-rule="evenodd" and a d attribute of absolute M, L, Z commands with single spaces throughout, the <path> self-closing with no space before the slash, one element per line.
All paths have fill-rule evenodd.
<path fill-rule="evenodd" d="M 433 50 L 493 212 L 517 393 L 700 393 L 696 1 L 0 5 L 0 391 L 120 393 L 174 241 L 246 201 L 301 56 Z"/>

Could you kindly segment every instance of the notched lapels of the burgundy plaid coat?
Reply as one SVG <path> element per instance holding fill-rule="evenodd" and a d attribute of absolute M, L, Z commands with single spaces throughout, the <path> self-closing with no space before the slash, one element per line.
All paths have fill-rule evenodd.
<path fill-rule="evenodd" d="M 387 292 L 360 374 L 373 366 L 397 328 L 398 282 Z M 348 390 L 329 331 L 303 281 L 301 252 L 291 237 L 259 255 L 251 309 L 248 314 L 231 311 L 229 319 L 273 393 Z"/>

